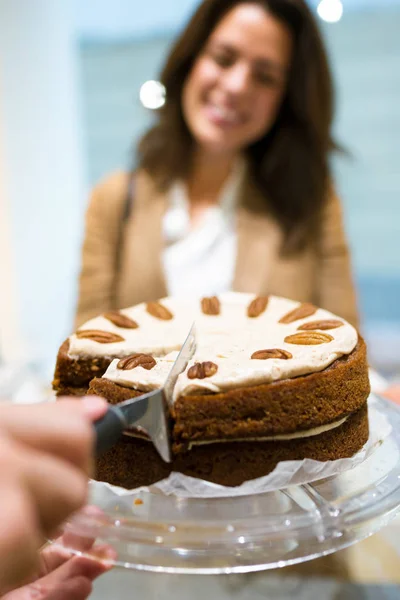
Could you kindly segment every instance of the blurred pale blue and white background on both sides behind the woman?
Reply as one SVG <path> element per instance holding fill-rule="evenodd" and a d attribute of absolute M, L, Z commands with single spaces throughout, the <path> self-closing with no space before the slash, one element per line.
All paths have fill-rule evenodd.
<path fill-rule="evenodd" d="M 50 378 L 90 187 L 129 167 L 197 0 L 0 0 L 0 360 Z M 400 374 L 400 0 L 310 0 L 337 83 L 336 181 L 370 359 Z M 146 108 L 147 106 L 147 108 Z M 150 108 L 149 108 L 150 107 Z"/>

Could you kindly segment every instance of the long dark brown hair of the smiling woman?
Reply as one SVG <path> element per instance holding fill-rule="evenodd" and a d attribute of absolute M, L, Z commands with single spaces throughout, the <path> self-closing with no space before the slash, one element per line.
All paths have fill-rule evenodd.
<path fill-rule="evenodd" d="M 258 4 L 293 35 L 287 90 L 266 135 L 245 150 L 256 185 L 284 234 L 284 248 L 298 249 L 319 218 L 329 185 L 334 112 L 333 83 L 325 47 L 305 0 L 204 0 L 175 41 L 160 81 L 167 101 L 138 145 L 138 166 L 161 189 L 190 169 L 194 140 L 183 117 L 185 80 L 210 33 L 233 7 Z"/>

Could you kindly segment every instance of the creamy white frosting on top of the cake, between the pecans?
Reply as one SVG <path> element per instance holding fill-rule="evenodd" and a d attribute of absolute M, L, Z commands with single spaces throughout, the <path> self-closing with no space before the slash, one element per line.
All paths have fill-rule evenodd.
<path fill-rule="evenodd" d="M 340 356 L 350 354 L 357 344 L 357 331 L 336 315 L 319 308 L 313 315 L 290 324 L 279 323 L 281 317 L 299 306 L 298 302 L 270 296 L 267 309 L 259 317 L 249 318 L 247 307 L 254 294 L 226 292 L 219 295 L 221 313 L 204 315 L 200 300 L 164 298 L 160 302 L 174 315 L 169 321 L 151 316 L 145 304 L 121 311 L 135 320 L 137 329 L 121 329 L 104 317 L 85 323 L 80 329 L 100 329 L 118 333 L 124 342 L 100 344 L 92 340 L 70 338 L 71 357 L 114 356 L 121 357 L 133 352 L 152 354 L 157 365 L 146 370 L 142 367 L 122 371 L 118 360 L 112 361 L 104 377 L 122 385 L 140 390 L 152 390 L 165 381 L 176 356 L 171 354 L 180 348 L 193 320 L 198 333 L 197 349 L 188 368 L 195 362 L 211 361 L 218 366 L 212 377 L 189 379 L 188 368 L 182 373 L 174 390 L 174 399 L 197 391 L 220 392 L 232 388 L 258 385 L 321 371 Z M 339 319 L 343 326 L 325 333 L 333 340 L 319 345 L 288 344 L 284 338 L 297 332 L 303 323 L 316 320 Z M 288 360 L 251 359 L 257 350 L 279 348 L 292 354 Z"/>

